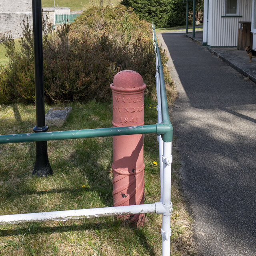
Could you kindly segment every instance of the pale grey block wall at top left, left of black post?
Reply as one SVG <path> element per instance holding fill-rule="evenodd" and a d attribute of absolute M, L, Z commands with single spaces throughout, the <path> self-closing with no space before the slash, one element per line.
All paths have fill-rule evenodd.
<path fill-rule="evenodd" d="M 12 31 L 12 36 L 22 36 L 20 23 L 26 20 L 32 26 L 32 0 L 0 0 L 0 33 Z"/>

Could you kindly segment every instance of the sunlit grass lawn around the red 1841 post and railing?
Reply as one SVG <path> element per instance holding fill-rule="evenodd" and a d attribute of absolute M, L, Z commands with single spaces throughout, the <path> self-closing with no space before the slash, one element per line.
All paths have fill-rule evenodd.
<path fill-rule="evenodd" d="M 157 122 L 156 106 L 145 98 L 145 124 Z M 61 130 L 112 126 L 112 102 L 72 103 Z M 46 105 L 46 111 L 52 107 Z M 0 105 L 0 134 L 28 133 L 36 123 L 34 104 Z M 50 128 L 50 131 L 60 130 Z M 180 163 L 172 164 L 171 255 L 195 255 L 191 221 L 179 189 Z M 112 138 L 48 142 L 54 174 L 30 175 L 35 143 L 0 144 L 0 215 L 112 206 Z M 156 134 L 144 135 L 145 203 L 160 200 Z M 162 216 L 146 214 L 144 227 L 134 228 L 116 217 L 48 221 L 0 226 L 0 255 L 8 256 L 153 256 L 161 253 Z"/>

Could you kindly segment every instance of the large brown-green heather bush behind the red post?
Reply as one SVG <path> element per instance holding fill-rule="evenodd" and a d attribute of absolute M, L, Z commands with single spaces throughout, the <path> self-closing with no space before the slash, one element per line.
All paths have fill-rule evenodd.
<path fill-rule="evenodd" d="M 0 38 L 10 58 L 0 66 L 0 102 L 34 101 L 33 35 L 26 22 L 22 28 L 19 49 L 10 36 Z M 128 69 L 142 75 L 147 93 L 154 90 L 151 24 L 132 8 L 92 7 L 56 33 L 44 21 L 43 56 L 48 102 L 110 98 L 114 75 Z"/>

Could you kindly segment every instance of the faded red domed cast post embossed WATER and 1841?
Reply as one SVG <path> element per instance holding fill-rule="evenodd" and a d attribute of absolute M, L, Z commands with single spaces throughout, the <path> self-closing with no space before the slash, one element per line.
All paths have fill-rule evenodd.
<path fill-rule="evenodd" d="M 110 85 L 113 92 L 113 126 L 144 124 L 144 90 L 146 85 L 135 71 L 118 72 Z M 114 206 L 144 204 L 143 134 L 113 137 Z M 144 214 L 125 218 L 143 225 Z"/>

